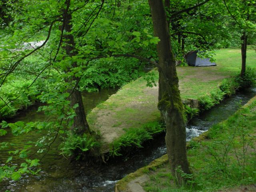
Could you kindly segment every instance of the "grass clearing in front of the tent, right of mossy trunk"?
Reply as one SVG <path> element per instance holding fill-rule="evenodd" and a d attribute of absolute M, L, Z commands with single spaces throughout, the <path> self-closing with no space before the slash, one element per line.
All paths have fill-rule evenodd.
<path fill-rule="evenodd" d="M 246 66 L 256 68 L 255 50 L 247 52 Z M 216 50 L 216 64 L 213 67 L 178 67 L 182 99 L 198 98 L 216 88 L 224 78 L 234 77 L 241 70 L 241 50 L 228 48 Z"/>

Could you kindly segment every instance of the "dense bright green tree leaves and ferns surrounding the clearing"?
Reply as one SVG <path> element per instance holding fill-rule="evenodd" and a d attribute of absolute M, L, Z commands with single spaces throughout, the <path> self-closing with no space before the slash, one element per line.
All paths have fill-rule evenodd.
<path fill-rule="evenodd" d="M 204 56 L 213 56 L 213 49 L 238 46 L 242 34 L 248 36 L 248 44 L 255 43 L 255 1 L 245 3 L 174 0 L 166 6 L 177 63 L 186 65 L 184 54 L 190 50 L 207 50 Z M 72 104 L 73 93 L 119 88 L 145 75 L 158 61 L 158 42 L 147 1 L 2 0 L 0 119 L 6 120 L 17 110 L 42 102 L 45 105 L 38 111 L 44 112 L 46 121 L 2 122 L 0 136 L 32 131 L 40 136 L 15 151 L 11 150 L 12 144 L 0 143 L 0 150 L 10 149 L 9 158 L 0 167 L 0 181 L 18 180 L 25 173 L 38 174 L 34 167 L 39 160 L 28 154 L 36 148 L 44 157 L 59 137 L 63 139 L 59 149 L 64 156 L 86 159 L 89 150 L 98 150 L 98 134 L 90 130 L 78 134 L 73 128 L 74 119 L 79 116 L 76 110 L 82 108 L 78 102 Z M 148 86 L 155 84 L 150 74 L 145 78 Z M 247 70 L 237 84 L 224 82 L 210 96 L 200 98 L 200 104 L 208 109 L 225 94 L 232 94 L 238 84 L 251 86 L 254 79 L 255 72 Z M 185 112 L 190 116 L 198 114 L 188 106 Z M 140 147 L 162 131 L 159 124 L 127 131 L 121 141 L 114 143 L 112 155 L 119 155 L 124 147 Z M 12 166 L 17 159 L 22 163 Z"/>

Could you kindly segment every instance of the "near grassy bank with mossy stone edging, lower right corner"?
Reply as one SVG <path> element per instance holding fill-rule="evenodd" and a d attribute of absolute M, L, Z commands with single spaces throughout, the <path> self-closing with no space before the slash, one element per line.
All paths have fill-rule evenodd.
<path fill-rule="evenodd" d="M 218 107 L 216 109 L 218 111 Z M 204 132 L 204 137 L 193 138 L 191 142 L 188 142 L 188 160 L 193 172 L 193 185 L 190 186 L 190 183 L 179 187 L 175 185 L 175 178 L 170 174 L 168 157 L 164 155 L 148 166 L 122 178 L 116 183 L 115 191 L 155 192 L 161 189 L 176 192 L 254 192 L 256 190 L 255 109 L 256 96 L 227 120 L 211 126 L 209 130 Z M 212 114 L 214 114 L 214 111 Z M 226 113 L 224 116 L 226 116 Z M 212 120 L 214 120 L 214 123 L 219 121 L 217 118 L 212 118 Z M 207 121 L 206 124 L 208 124 Z M 202 124 L 202 126 L 204 125 Z M 211 152 L 210 149 L 214 151 Z M 240 151 L 244 150 L 246 152 L 240 154 Z M 228 163 L 222 165 L 222 158 L 223 161 Z M 242 166 L 240 161 L 246 161 L 245 166 Z M 218 170 L 223 168 L 222 166 L 225 166 L 227 172 Z M 218 171 L 220 172 L 218 173 Z M 211 174 L 214 174 L 214 178 L 211 176 L 208 178 Z"/>

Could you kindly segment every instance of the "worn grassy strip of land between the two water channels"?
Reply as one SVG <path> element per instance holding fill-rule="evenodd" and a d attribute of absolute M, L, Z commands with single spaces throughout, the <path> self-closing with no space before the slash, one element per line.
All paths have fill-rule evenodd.
<path fill-rule="evenodd" d="M 217 51 L 217 66 L 177 67 L 182 99 L 198 98 L 209 93 L 224 79 L 240 71 L 240 50 L 223 49 Z M 254 50 L 248 50 L 247 66 L 253 65 Z M 154 80 L 158 82 L 158 71 Z M 109 144 L 125 133 L 125 129 L 139 127 L 146 122 L 157 120 L 158 86 L 146 86 L 142 77 L 123 86 L 106 102 L 99 104 L 88 114 L 88 122 L 93 130 L 102 134 L 103 151 L 108 152 Z"/>

